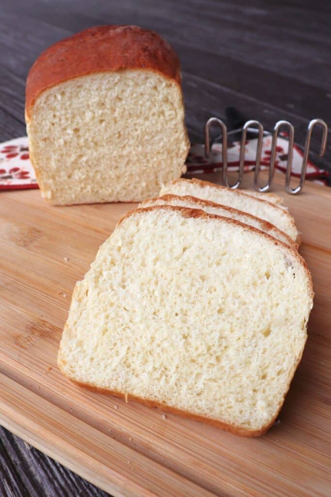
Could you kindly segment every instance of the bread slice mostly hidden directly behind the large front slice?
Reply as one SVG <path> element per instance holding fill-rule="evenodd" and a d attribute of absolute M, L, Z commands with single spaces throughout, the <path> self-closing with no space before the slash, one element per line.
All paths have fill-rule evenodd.
<path fill-rule="evenodd" d="M 283 231 L 278 230 L 273 224 L 259 219 L 246 212 L 239 211 L 233 207 L 228 207 L 226 205 L 216 204 L 215 202 L 210 202 L 209 200 L 202 200 L 200 198 L 191 197 L 189 195 L 180 197 L 179 195 L 163 195 L 162 197 L 149 198 L 143 200 L 140 203 L 140 207 L 150 207 L 152 205 L 175 205 L 179 207 L 189 207 L 191 209 L 202 209 L 208 214 L 215 214 L 216 216 L 229 217 L 231 219 L 236 219 L 241 223 L 248 224 L 249 226 L 254 226 L 258 230 L 264 231 L 268 235 L 285 244 L 298 249 L 298 246 L 288 235 L 285 235 Z"/>

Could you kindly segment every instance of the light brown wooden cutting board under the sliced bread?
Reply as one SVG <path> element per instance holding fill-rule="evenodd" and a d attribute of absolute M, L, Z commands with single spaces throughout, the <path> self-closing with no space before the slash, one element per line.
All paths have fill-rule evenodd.
<path fill-rule="evenodd" d="M 264 437 L 164 418 L 61 375 L 74 284 L 133 204 L 52 207 L 37 190 L 0 193 L 0 423 L 114 496 L 329 496 L 331 189 L 275 190 L 302 231 L 315 303 L 280 422 Z"/>

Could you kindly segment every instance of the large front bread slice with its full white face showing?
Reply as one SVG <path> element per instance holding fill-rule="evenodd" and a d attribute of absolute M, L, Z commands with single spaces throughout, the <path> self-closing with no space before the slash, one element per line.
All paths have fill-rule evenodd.
<path fill-rule="evenodd" d="M 300 361 L 312 299 L 302 257 L 265 233 L 136 209 L 76 284 L 58 364 L 89 388 L 258 436 Z"/>

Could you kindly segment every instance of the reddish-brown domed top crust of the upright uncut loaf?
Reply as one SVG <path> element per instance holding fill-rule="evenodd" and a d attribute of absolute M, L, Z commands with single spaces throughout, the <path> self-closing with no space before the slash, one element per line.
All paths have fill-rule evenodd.
<path fill-rule="evenodd" d="M 180 84 L 180 62 L 155 31 L 138 26 L 95 26 L 47 48 L 31 67 L 25 92 L 26 116 L 38 95 L 55 84 L 91 73 L 145 69 Z"/>

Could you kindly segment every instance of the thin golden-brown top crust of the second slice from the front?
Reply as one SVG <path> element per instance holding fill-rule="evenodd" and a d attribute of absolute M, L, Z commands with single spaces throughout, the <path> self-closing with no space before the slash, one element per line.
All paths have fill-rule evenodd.
<path fill-rule="evenodd" d="M 143 200 L 142 202 L 140 202 L 140 207 L 143 207 L 145 203 L 149 202 L 149 201 L 152 201 L 152 202 L 155 202 L 159 199 L 161 200 L 164 200 L 164 201 L 169 201 L 171 202 L 172 200 L 178 200 L 178 199 L 181 199 L 181 198 L 184 198 L 185 200 L 188 200 L 190 202 L 194 202 L 196 204 L 199 204 L 201 209 L 203 210 L 205 207 L 215 207 L 215 208 L 218 208 L 218 207 L 221 207 L 222 209 L 232 213 L 232 214 L 237 214 L 237 215 L 241 215 L 241 216 L 245 216 L 249 219 L 253 221 L 259 221 L 259 223 L 261 224 L 261 227 L 263 228 L 263 231 L 273 231 L 274 233 L 277 233 L 277 235 L 279 237 L 282 237 L 284 239 L 286 239 L 286 243 L 290 246 L 290 247 L 293 247 L 295 248 L 296 250 L 298 249 L 298 245 L 291 239 L 291 237 L 289 237 L 288 235 L 286 235 L 286 233 L 284 233 L 283 231 L 279 230 L 275 225 L 273 225 L 272 223 L 269 223 L 268 221 L 265 221 L 265 219 L 261 219 L 261 218 L 258 218 L 256 216 L 253 216 L 252 214 L 249 214 L 248 212 L 244 212 L 244 211 L 241 211 L 239 209 L 235 209 L 234 207 L 229 207 L 227 205 L 223 205 L 223 204 L 217 204 L 216 202 L 212 202 L 211 200 L 204 200 L 202 198 L 198 198 L 198 197 L 193 197 L 192 195 L 183 195 L 183 196 L 180 196 L 180 195 L 174 195 L 172 193 L 167 193 L 165 195 L 162 195 L 160 197 L 154 197 L 154 198 L 148 198 L 146 200 Z"/>

